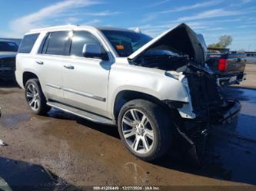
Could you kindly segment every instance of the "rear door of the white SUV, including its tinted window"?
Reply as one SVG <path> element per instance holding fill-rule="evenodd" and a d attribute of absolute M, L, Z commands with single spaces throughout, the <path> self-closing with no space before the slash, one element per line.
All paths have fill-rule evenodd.
<path fill-rule="evenodd" d="M 63 100 L 62 68 L 69 54 L 70 31 L 53 31 L 45 34 L 35 60 L 40 83 L 50 100 Z"/>

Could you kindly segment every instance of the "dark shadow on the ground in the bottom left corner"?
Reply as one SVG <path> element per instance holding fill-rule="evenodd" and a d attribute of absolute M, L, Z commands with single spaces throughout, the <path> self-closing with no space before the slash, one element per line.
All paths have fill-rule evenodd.
<path fill-rule="evenodd" d="M 0 157 L 0 190 L 81 190 L 45 167 Z"/>

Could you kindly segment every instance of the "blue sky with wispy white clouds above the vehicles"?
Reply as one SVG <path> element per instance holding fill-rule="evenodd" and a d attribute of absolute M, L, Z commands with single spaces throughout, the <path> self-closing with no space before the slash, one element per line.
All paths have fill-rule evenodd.
<path fill-rule="evenodd" d="M 256 50 L 255 0 L 0 0 L 0 5 L 0 37 L 22 38 L 32 28 L 66 24 L 138 27 L 155 37 L 185 22 L 207 44 L 231 35 L 231 49 Z"/>

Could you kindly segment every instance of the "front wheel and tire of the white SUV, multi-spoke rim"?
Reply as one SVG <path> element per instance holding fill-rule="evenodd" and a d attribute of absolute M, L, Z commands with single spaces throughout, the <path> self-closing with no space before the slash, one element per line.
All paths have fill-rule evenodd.
<path fill-rule="evenodd" d="M 141 160 L 156 160 L 167 153 L 171 128 L 168 112 L 148 100 L 128 101 L 118 115 L 122 142 Z"/>

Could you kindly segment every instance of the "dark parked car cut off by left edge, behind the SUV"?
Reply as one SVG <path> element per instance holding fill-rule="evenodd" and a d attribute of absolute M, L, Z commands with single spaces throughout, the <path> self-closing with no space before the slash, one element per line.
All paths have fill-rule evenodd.
<path fill-rule="evenodd" d="M 0 40 L 0 80 L 15 80 L 15 57 L 18 45 L 14 41 Z"/>

